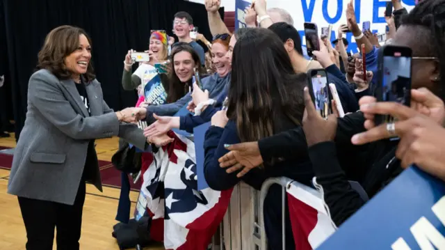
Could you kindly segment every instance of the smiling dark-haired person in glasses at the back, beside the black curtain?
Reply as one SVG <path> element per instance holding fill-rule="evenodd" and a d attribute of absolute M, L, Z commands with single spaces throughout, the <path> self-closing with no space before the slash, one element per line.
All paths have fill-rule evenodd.
<path fill-rule="evenodd" d="M 205 65 L 204 49 L 190 36 L 190 32 L 193 31 L 193 28 L 193 18 L 190 14 L 184 11 L 175 14 L 175 19 L 173 20 L 173 33 L 178 37 L 179 42 L 187 42 L 191 45 L 198 56 L 200 56 L 201 65 Z"/>

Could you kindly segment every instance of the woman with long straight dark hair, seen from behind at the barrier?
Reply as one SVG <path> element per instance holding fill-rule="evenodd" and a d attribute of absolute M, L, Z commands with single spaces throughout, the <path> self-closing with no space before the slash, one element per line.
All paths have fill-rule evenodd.
<path fill-rule="evenodd" d="M 226 111 L 218 111 L 205 136 L 204 175 L 209 187 L 226 190 L 243 180 L 259 190 L 264 180 L 278 176 L 309 185 L 314 176 L 309 157 L 294 161 L 273 159 L 241 178 L 237 177 L 240 171 L 227 173 L 218 163 L 218 159 L 228 152 L 227 144 L 257 141 L 301 125 L 305 84 L 306 75 L 295 74 L 280 38 L 272 31 L 251 29 L 236 42 L 227 116 Z M 281 197 L 277 195 L 280 190 L 273 186 L 264 204 L 267 236 L 277 249 L 282 244 L 282 208 L 277 205 L 281 202 L 274 198 Z M 286 217 L 286 247 L 295 249 L 289 214 Z"/>

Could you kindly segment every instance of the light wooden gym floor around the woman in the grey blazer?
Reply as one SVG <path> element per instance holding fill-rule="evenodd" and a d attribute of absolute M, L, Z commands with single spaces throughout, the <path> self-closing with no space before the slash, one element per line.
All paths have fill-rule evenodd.
<path fill-rule="evenodd" d="M 111 157 L 118 150 L 118 138 L 96 141 L 97 157 L 111 162 Z M 10 138 L 1 138 L 0 146 L 15 148 L 14 134 Z M 1 162 L 0 162 L 1 166 Z M 25 249 L 26 231 L 20 214 L 17 197 L 7 194 L 9 170 L 0 169 L 0 250 Z M 120 189 L 104 187 L 99 192 L 87 184 L 86 199 L 83 207 L 81 249 L 119 250 L 115 238 L 111 235 L 118 208 Z M 131 192 L 131 211 L 134 210 L 137 192 Z M 56 249 L 54 242 L 53 249 Z M 149 250 L 164 249 L 162 244 L 145 248 Z"/>

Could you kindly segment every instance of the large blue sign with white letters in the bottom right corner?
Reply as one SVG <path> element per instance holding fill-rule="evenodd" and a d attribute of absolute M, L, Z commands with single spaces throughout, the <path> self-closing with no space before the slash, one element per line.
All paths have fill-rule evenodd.
<path fill-rule="evenodd" d="M 412 166 L 317 250 L 445 249 L 444 235 L 445 182 Z"/>

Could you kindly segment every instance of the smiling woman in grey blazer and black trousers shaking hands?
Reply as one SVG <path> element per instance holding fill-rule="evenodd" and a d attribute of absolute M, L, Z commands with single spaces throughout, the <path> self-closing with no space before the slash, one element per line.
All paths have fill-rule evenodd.
<path fill-rule="evenodd" d="M 95 139 L 120 136 L 149 144 L 134 123 L 145 109 L 114 112 L 93 75 L 90 38 L 73 26 L 52 30 L 29 79 L 28 111 L 8 193 L 18 196 L 26 249 L 79 249 L 86 181 L 102 191 Z M 143 114 L 144 113 L 144 114 Z"/>

